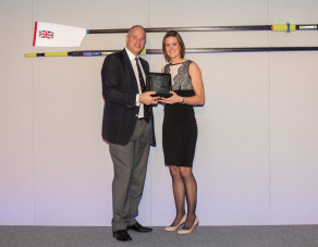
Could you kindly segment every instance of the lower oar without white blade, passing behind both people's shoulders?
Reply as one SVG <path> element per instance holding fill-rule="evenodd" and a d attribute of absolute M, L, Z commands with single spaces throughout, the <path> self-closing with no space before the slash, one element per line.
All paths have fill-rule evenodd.
<path fill-rule="evenodd" d="M 269 52 L 269 51 L 316 51 L 318 47 L 242 47 L 242 48 L 188 48 L 185 53 L 217 53 L 217 52 Z M 117 50 L 87 50 L 66 52 L 25 53 L 25 58 L 37 57 L 96 57 L 108 55 Z M 144 49 L 140 55 L 162 54 L 161 49 Z"/>

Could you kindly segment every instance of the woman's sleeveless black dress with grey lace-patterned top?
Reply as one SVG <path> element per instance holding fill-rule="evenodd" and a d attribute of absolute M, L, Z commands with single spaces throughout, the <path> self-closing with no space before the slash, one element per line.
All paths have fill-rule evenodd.
<path fill-rule="evenodd" d="M 164 73 L 170 73 L 172 90 L 182 97 L 194 96 L 188 67 L 192 63 L 167 64 Z M 192 168 L 197 139 L 197 124 L 193 106 L 166 104 L 162 125 L 162 145 L 167 165 Z"/>

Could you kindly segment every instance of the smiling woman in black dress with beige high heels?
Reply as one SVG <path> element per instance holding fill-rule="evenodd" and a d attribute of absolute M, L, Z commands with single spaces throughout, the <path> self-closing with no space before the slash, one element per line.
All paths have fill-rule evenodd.
<path fill-rule="evenodd" d="M 178 233 L 188 234 L 198 224 L 195 214 L 197 184 L 192 173 L 197 139 L 193 106 L 204 104 L 205 90 L 200 69 L 195 62 L 184 59 L 185 47 L 178 32 L 170 30 L 164 35 L 162 50 L 169 62 L 162 72 L 170 73 L 172 78 L 172 96 L 160 100 L 164 103 L 162 141 L 176 207 L 176 217 L 166 231 L 176 231 L 184 224 Z"/>

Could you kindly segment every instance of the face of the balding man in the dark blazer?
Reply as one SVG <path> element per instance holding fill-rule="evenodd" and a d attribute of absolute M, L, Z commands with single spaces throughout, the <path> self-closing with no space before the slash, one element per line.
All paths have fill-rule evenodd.
<path fill-rule="evenodd" d="M 134 54 L 138 55 L 146 44 L 146 34 L 140 27 L 135 27 L 126 36 L 126 47 Z"/>

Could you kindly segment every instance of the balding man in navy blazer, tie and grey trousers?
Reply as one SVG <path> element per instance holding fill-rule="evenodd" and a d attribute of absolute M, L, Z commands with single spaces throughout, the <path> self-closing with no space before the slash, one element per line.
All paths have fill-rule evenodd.
<path fill-rule="evenodd" d="M 105 59 L 101 78 L 105 99 L 102 138 L 109 144 L 113 161 L 113 237 L 131 240 L 127 230 L 151 232 L 140 225 L 138 214 L 150 144 L 156 145 L 150 104 L 158 102 L 155 91 L 145 91 L 148 63 L 138 58 L 146 44 L 144 27 L 133 26 L 126 48 Z"/>

